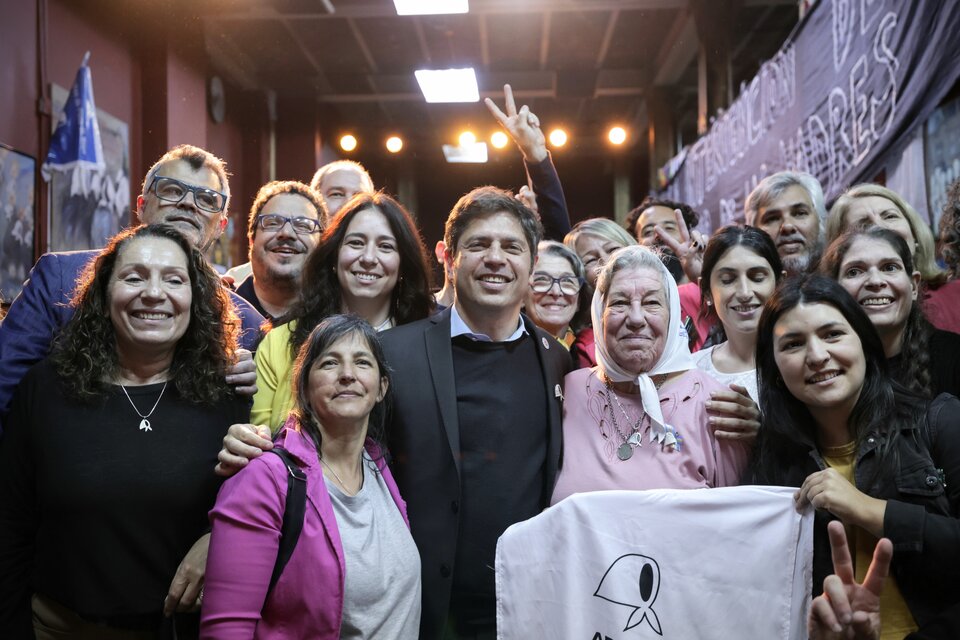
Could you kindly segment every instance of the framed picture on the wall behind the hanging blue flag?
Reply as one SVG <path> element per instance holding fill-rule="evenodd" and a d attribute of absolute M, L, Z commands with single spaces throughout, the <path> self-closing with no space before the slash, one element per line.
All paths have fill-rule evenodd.
<path fill-rule="evenodd" d="M 60 113 L 69 92 L 53 84 L 53 113 Z M 92 193 L 83 193 L 74 183 L 75 171 L 54 172 L 50 181 L 50 246 L 48 251 L 99 249 L 121 229 L 129 226 L 130 128 L 126 122 L 97 109 L 100 140 L 106 171 L 94 178 Z M 57 119 L 53 118 L 52 130 Z"/>

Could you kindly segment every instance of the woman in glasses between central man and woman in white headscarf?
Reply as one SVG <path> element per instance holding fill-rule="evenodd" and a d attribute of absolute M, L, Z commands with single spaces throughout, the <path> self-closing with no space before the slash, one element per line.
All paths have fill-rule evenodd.
<path fill-rule="evenodd" d="M 524 310 L 534 323 L 570 348 L 576 333 L 589 325 L 589 307 L 581 299 L 583 263 L 559 242 L 544 240 L 537 248 L 536 270 Z"/>

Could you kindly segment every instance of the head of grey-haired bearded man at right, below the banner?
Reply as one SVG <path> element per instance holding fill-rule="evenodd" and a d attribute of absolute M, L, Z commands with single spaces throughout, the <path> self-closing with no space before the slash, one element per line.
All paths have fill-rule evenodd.
<path fill-rule="evenodd" d="M 787 275 L 813 271 L 823 250 L 827 209 L 823 188 L 809 173 L 781 171 L 767 176 L 744 203 L 748 225 L 773 238 Z"/>

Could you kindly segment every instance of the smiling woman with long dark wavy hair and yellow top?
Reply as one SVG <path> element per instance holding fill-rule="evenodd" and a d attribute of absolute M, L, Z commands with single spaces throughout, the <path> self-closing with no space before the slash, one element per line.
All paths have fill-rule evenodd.
<path fill-rule="evenodd" d="M 427 255 L 416 223 L 399 202 L 383 193 L 350 199 L 307 259 L 300 301 L 257 349 L 252 421 L 277 431 L 287 419 L 294 356 L 324 318 L 353 313 L 384 331 L 430 315 Z"/>

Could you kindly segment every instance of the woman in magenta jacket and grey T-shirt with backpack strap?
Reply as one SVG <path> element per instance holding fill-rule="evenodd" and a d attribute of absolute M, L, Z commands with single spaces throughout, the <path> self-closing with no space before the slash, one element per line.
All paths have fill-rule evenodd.
<path fill-rule="evenodd" d="M 296 408 L 276 444 L 306 475 L 306 513 L 275 586 L 289 471 L 255 458 L 210 512 L 203 638 L 416 638 L 420 557 L 378 441 L 389 374 L 376 332 L 320 323 L 295 364 Z"/>

